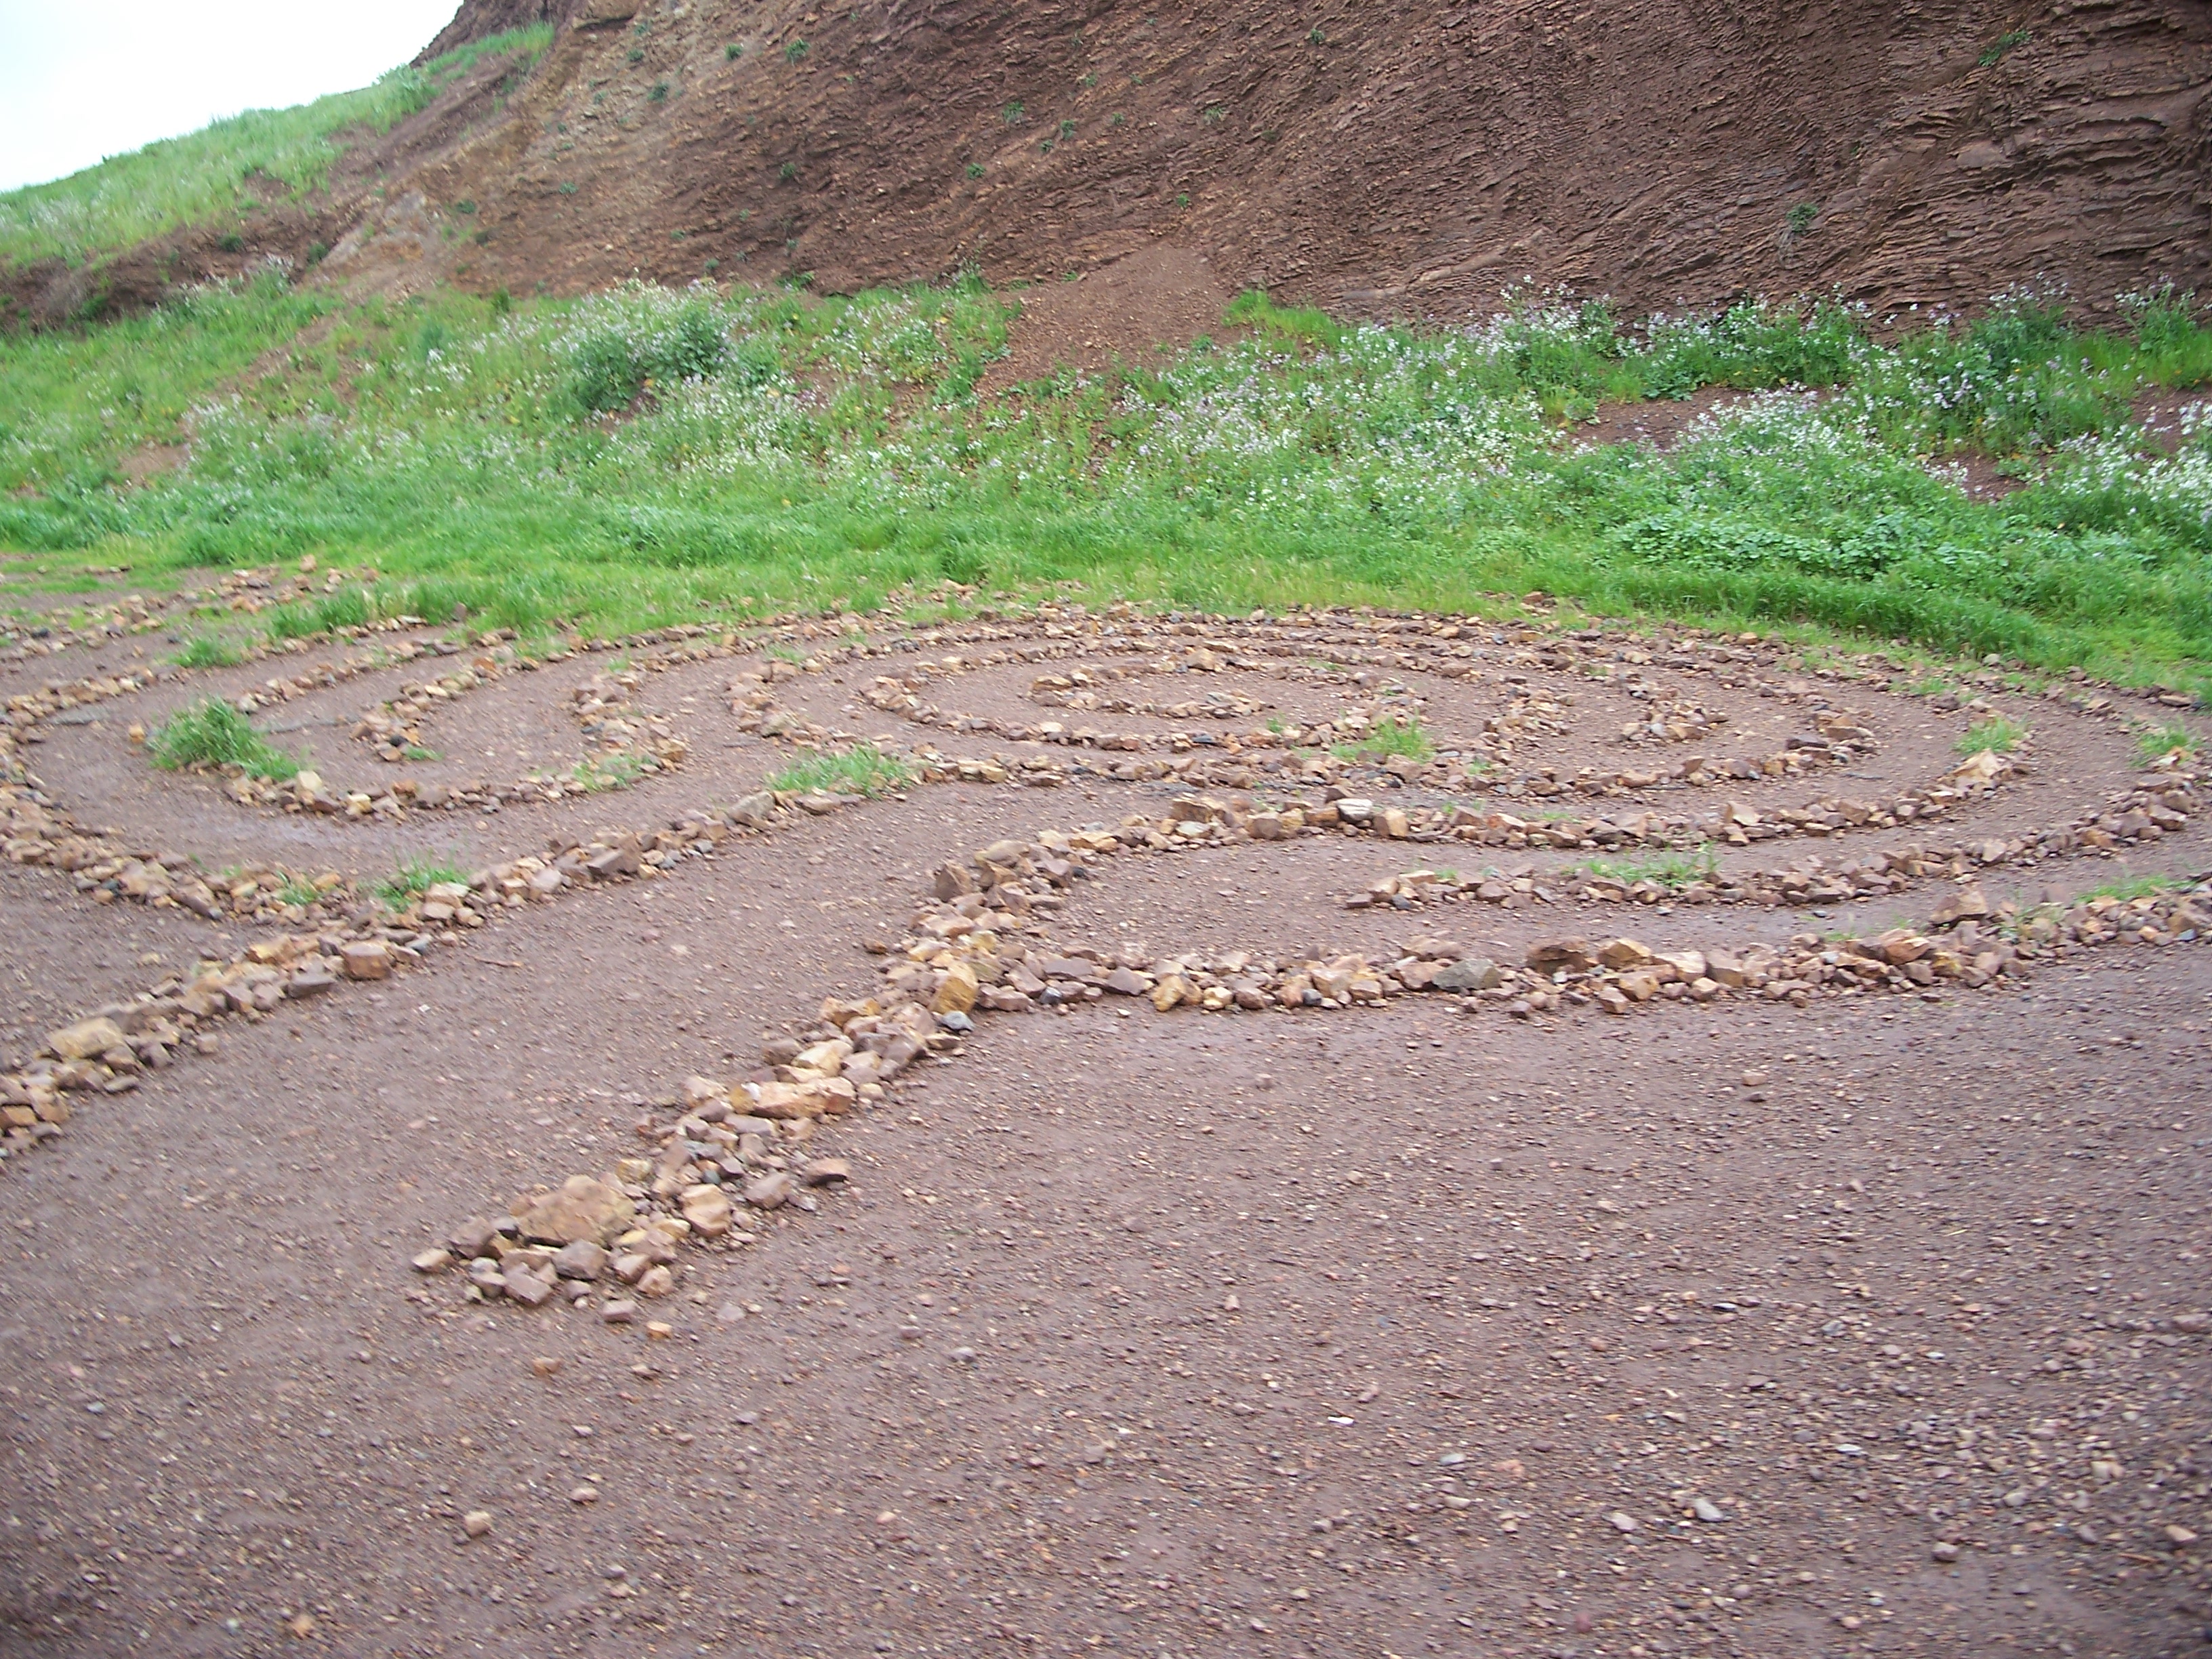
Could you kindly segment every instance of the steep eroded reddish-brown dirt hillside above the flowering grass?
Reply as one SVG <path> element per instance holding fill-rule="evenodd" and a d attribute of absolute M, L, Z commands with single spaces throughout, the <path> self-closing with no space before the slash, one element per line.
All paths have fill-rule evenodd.
<path fill-rule="evenodd" d="M 1356 312 L 1517 279 L 1902 307 L 2212 252 L 2188 4 L 469 0 L 436 44 L 535 15 L 531 84 L 414 177 L 478 204 L 465 281 L 1060 276 L 1170 241 Z"/>

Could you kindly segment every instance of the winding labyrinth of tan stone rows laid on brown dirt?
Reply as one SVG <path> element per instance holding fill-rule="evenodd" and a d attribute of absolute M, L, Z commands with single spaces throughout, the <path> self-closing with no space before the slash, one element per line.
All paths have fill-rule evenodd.
<path fill-rule="evenodd" d="M 701 872 L 743 874 L 830 818 L 885 852 L 945 785 L 978 818 L 1002 794 L 1033 823 L 931 852 L 900 929 L 801 907 L 818 1011 L 717 1033 L 717 1075 L 635 1077 L 630 1148 L 522 1192 L 487 1168 L 482 1212 L 385 1281 L 471 1316 L 571 1307 L 670 1336 L 664 1310 L 717 1256 L 852 1203 L 852 1126 L 916 1079 L 958 1079 L 993 1022 L 1356 1033 L 1422 1009 L 1436 1046 L 1542 1048 L 1584 1020 L 1663 1037 L 1745 1004 L 1973 1002 L 2212 927 L 2194 714 L 2157 690 L 1568 626 L 1535 597 L 1506 619 L 836 617 L 540 657 L 403 617 L 228 668 L 170 661 L 186 615 L 334 586 L 239 573 L 33 617 L 4 653 L 7 858 L 104 920 L 184 914 L 206 949 L 7 1033 L 0 1175 L 69 1157 L 73 1115 L 131 1113 L 148 1073 L 219 1075 L 228 1022 L 376 995 L 447 956 L 520 969 L 500 929 L 540 907 L 588 918 L 630 885 L 681 907 Z M 153 765 L 164 723 L 208 699 L 299 774 Z M 1743 1075 L 1754 1104 L 1761 1084 Z M 1681 1513 L 1721 1509 L 1686 1495 Z M 489 1526 L 469 1515 L 471 1537 Z"/>

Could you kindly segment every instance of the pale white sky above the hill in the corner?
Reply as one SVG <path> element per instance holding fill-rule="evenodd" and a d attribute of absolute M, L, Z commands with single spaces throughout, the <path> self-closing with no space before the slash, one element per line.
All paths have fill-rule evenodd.
<path fill-rule="evenodd" d="M 367 86 L 460 0 L 0 0 L 0 190 Z"/>

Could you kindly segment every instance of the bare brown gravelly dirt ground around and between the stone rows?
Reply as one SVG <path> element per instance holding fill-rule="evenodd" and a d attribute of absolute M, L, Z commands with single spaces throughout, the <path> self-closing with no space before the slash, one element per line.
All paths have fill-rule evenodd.
<path fill-rule="evenodd" d="M 916 661 L 956 633 L 885 644 Z M 1402 675 L 1440 739 L 1478 741 L 1506 672 L 1586 681 L 1478 639 L 1480 681 Z M 1646 646 L 1659 701 L 1690 688 L 1739 730 L 1774 710 L 1803 726 L 1790 686 L 1867 710 L 1876 748 L 1854 765 L 1887 776 L 1743 783 L 1767 812 L 1924 779 L 1971 719 L 1803 679 L 1767 648 L 1721 684 Z M 131 659 L 111 639 L 0 661 L 0 690 Z M 695 765 L 458 823 L 241 807 L 133 759 L 131 699 L 55 726 L 33 770 L 86 821 L 144 812 L 204 863 L 301 836 L 363 872 L 416 847 L 511 858 L 759 787 L 783 739 L 739 730 L 719 684 L 763 661 L 646 677 L 655 706 L 690 699 Z M 832 664 L 785 706 L 896 728 L 852 701 L 896 666 Z M 555 692 L 571 668 L 456 699 L 440 748 L 560 759 L 568 717 L 515 688 Z M 190 684 L 237 695 L 270 672 Z M 931 701 L 1013 719 L 1031 672 L 949 672 Z M 1172 679 L 1155 664 L 1144 690 Z M 1329 697 L 1371 699 L 1387 675 L 1369 679 Z M 363 703 L 389 690 L 352 686 Z M 316 717 L 345 695 L 316 692 Z M 1986 695 L 2033 719 L 2031 770 L 1940 834 L 2020 836 L 2135 776 L 2110 714 Z M 1528 745 L 1637 759 L 1619 701 L 1562 706 L 1562 730 L 1513 763 Z M 343 741 L 343 723 L 314 730 Z M 365 750 L 352 765 L 387 770 Z M 752 1243 L 684 1254 L 648 1305 L 666 1336 L 409 1270 L 467 1217 L 650 1148 L 637 1126 L 686 1077 L 739 1075 L 825 995 L 867 993 L 865 945 L 911 931 L 940 863 L 1183 794 L 1071 768 L 1051 790 L 927 783 L 794 812 L 666 874 L 502 911 L 396 978 L 226 1020 L 212 1055 L 80 1097 L 51 1146 L 0 1166 L 0 1650 L 2201 1652 L 2201 942 L 1803 1009 L 978 1011 L 962 1046 L 825 1126 L 854 1172 L 816 1212 L 761 1212 Z M 1860 852 L 1911 838 L 1854 834 Z M 1803 852 L 1725 856 L 1785 849 Z M 1978 883 L 2035 902 L 2197 876 L 2208 852 L 2190 825 Z M 1066 889 L 1051 929 L 1148 953 L 1374 951 L 1451 929 L 1517 962 L 1630 920 L 1571 898 L 1343 909 L 1433 854 L 1356 836 L 1124 854 Z M 1632 920 L 1659 947 L 1778 940 L 1927 916 L 1955 891 L 1931 876 L 1876 902 Z M 168 964 L 281 931 L 93 905 L 18 865 L 0 867 L 0 918 L 18 1055 Z"/>

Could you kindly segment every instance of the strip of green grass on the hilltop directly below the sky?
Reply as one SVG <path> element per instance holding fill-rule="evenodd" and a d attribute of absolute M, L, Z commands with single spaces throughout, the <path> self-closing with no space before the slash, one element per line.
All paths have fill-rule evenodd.
<path fill-rule="evenodd" d="M 0 268 L 35 259 L 77 265 L 179 226 L 246 223 L 270 195 L 301 199 L 330 184 L 354 137 L 387 133 L 427 108 L 484 58 L 535 62 L 553 29 L 535 24 L 394 69 L 358 93 L 281 111 L 246 111 L 144 150 L 113 155 L 53 184 L 0 195 Z"/>

